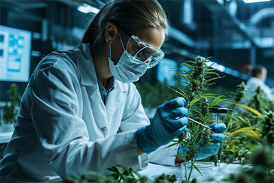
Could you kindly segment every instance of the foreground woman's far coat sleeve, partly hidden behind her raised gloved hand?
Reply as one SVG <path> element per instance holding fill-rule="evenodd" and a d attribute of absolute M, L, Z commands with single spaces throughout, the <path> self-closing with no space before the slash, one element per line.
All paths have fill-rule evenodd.
<path fill-rule="evenodd" d="M 142 127 L 149 124 L 149 119 L 145 114 L 145 110 L 142 106 L 142 99 L 134 84 L 129 84 L 127 103 L 125 105 L 125 112 L 123 115 L 120 130 L 125 132 L 127 130 L 136 130 L 138 127 Z M 169 145 L 169 144 L 168 144 Z M 169 147 L 164 145 L 159 147 L 156 151 L 149 154 L 149 162 L 175 166 L 175 147 Z"/>

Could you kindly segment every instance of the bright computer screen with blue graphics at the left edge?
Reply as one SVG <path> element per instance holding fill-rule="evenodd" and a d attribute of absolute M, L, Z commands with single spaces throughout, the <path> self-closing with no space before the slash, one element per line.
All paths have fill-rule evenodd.
<path fill-rule="evenodd" d="M 0 81 L 28 82 L 32 32 L 0 25 Z"/>

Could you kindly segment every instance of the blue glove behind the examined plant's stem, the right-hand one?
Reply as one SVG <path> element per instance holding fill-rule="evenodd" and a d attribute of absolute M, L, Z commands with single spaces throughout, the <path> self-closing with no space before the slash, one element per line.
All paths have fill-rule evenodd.
<path fill-rule="evenodd" d="M 214 132 L 214 134 L 211 134 L 211 138 L 213 139 L 213 141 L 210 141 L 210 144 L 208 145 L 208 147 L 203 149 L 202 152 L 201 152 L 202 148 L 197 147 L 197 149 L 198 149 L 197 155 L 200 154 L 200 152 L 201 152 L 201 154 L 197 157 L 196 160 L 208 158 L 208 156 L 212 156 L 213 154 L 215 154 L 220 148 L 221 141 L 223 141 L 225 139 L 223 132 L 225 132 L 226 126 L 224 123 L 219 123 L 219 124 L 213 123 L 209 127 Z M 212 147 L 213 149 L 210 147 Z M 184 151 L 184 147 L 180 148 L 179 154 L 182 154 L 183 151 Z"/>

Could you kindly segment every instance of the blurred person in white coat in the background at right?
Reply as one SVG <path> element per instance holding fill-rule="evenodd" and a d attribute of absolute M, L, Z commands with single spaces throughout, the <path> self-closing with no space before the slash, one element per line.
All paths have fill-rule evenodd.
<path fill-rule="evenodd" d="M 265 84 L 267 77 L 267 69 L 265 66 L 256 65 L 251 70 L 251 77 L 247 80 L 247 96 L 252 96 L 256 89 L 260 86 L 260 89 L 266 94 L 266 97 L 270 100 L 274 100 L 273 89 L 269 88 Z"/>

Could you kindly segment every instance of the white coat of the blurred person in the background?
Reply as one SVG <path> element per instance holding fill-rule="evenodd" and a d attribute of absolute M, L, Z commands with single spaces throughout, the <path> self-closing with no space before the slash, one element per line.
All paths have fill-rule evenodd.
<path fill-rule="evenodd" d="M 266 97 L 274 101 L 274 95 L 271 88 L 267 86 L 262 80 L 258 77 L 251 77 L 247 81 L 247 96 L 252 97 L 255 94 L 256 89 L 260 86 L 260 89 L 266 94 Z"/>

